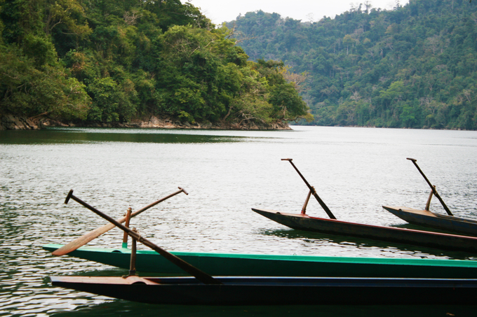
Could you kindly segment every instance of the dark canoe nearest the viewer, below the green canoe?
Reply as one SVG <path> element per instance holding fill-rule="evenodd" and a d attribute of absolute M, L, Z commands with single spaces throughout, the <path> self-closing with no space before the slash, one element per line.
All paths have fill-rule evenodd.
<path fill-rule="evenodd" d="M 53 286 L 149 304 L 476 304 L 477 279 L 51 276 Z"/>

